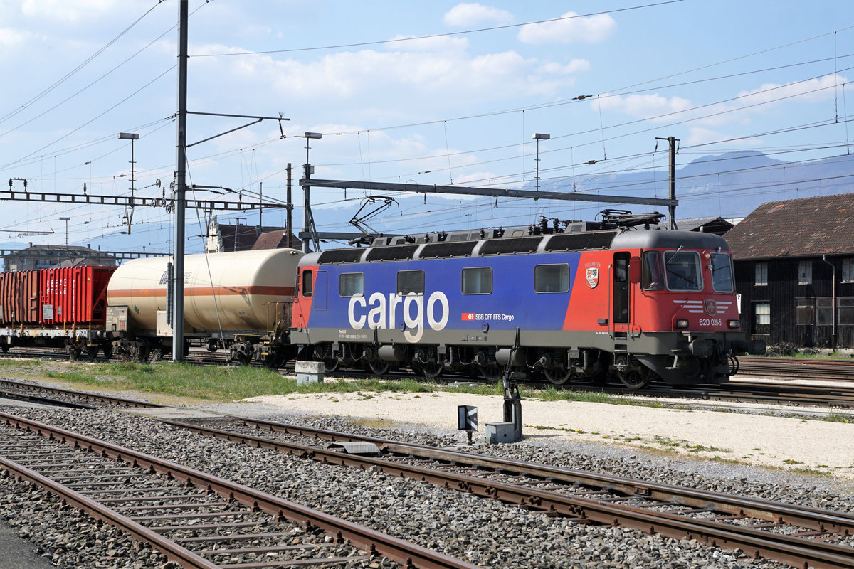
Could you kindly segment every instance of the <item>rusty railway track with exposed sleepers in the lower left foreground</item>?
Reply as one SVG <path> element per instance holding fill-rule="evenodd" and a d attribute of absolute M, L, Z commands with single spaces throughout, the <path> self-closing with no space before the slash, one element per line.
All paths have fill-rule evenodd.
<path fill-rule="evenodd" d="M 6 476 L 41 486 L 184 567 L 331 567 L 383 557 L 412 568 L 477 569 L 155 456 L 2 412 L 0 421 Z"/>

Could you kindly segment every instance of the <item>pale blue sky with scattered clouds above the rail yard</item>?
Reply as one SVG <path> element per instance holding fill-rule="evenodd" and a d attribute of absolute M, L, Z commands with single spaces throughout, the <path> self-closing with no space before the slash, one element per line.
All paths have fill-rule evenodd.
<path fill-rule="evenodd" d="M 845 154 L 854 137 L 848 2 L 192 0 L 190 12 L 190 110 L 290 118 L 284 139 L 264 121 L 190 148 L 192 183 L 247 199 L 263 183 L 284 200 L 285 165 L 298 179 L 305 161 L 304 131 L 324 134 L 312 144 L 315 177 L 497 187 L 534 179 L 534 132 L 552 136 L 540 147 L 546 180 L 666 168 L 656 136 L 680 139 L 680 165 L 733 150 L 815 160 Z M 31 190 L 82 193 L 86 183 L 127 195 L 130 148 L 116 135 L 132 131 L 137 193 L 161 195 L 154 184 L 168 186 L 175 160 L 177 15 L 177 0 L 0 0 L 4 185 L 20 177 Z M 244 122 L 193 116 L 188 138 Z M 364 197 L 314 190 L 319 229 L 352 230 L 342 219 Z M 527 224 L 553 206 L 395 197 L 375 228 Z M 109 234 L 113 249 L 169 247 L 161 209 L 137 208 L 132 237 L 114 235 L 120 208 L 3 210 L 0 244 L 62 243 L 58 218 L 70 217 L 73 243 Z M 56 233 L 34 233 L 44 230 Z"/>

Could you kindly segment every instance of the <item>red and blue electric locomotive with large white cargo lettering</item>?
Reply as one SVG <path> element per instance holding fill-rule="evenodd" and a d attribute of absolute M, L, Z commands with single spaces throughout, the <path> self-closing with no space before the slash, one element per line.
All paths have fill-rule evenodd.
<path fill-rule="evenodd" d="M 589 248 L 560 250 L 579 244 Z M 437 246 L 457 256 L 436 258 Z M 637 386 L 652 372 L 667 383 L 726 381 L 728 357 L 746 347 L 730 328 L 739 316 L 717 235 L 599 231 L 357 251 L 301 263 L 291 339 L 315 357 L 477 363 L 487 375 L 511 362 L 556 383 L 610 371 Z M 668 259 L 660 287 L 641 286 L 645 251 Z M 712 254 L 729 271 L 719 291 Z M 701 280 L 679 285 L 682 269 Z"/>

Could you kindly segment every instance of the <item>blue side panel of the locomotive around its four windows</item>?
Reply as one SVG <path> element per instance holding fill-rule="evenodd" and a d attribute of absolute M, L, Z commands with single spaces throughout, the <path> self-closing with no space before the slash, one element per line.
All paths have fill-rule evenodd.
<path fill-rule="evenodd" d="M 400 329 L 406 324 L 407 329 L 437 331 L 560 330 L 581 256 L 546 253 L 320 265 L 307 326 Z M 565 286 L 535 293 L 535 266 L 564 264 Z M 491 276 L 489 292 L 464 293 L 464 269 L 482 269 Z M 424 271 L 423 293 L 399 293 L 401 271 Z M 364 276 L 359 296 L 341 295 L 342 274 L 344 278 Z M 407 340 L 418 341 L 414 337 L 407 334 Z"/>

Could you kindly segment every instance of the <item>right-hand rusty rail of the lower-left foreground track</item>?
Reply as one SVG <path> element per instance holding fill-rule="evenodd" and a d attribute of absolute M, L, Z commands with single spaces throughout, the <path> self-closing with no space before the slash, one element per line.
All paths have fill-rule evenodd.
<path fill-rule="evenodd" d="M 350 543 L 360 549 L 365 549 L 371 554 L 380 554 L 401 563 L 403 566 L 418 569 L 480 569 L 471 563 L 425 549 L 380 531 L 371 530 L 313 508 L 284 500 L 278 496 L 272 496 L 266 492 L 220 479 L 193 468 L 183 467 L 174 462 L 164 461 L 136 450 L 126 449 L 116 444 L 8 413 L 0 412 L 0 420 L 10 427 L 24 430 L 27 433 L 37 433 L 44 437 L 54 438 L 64 444 L 74 444 L 116 461 L 131 462 L 135 466 L 148 468 L 151 473 L 165 474 L 188 485 L 205 488 L 208 491 L 218 493 L 220 496 L 228 496 L 231 500 L 250 508 L 260 509 L 267 514 L 304 525 L 311 525 L 330 535 L 348 539 Z"/>

